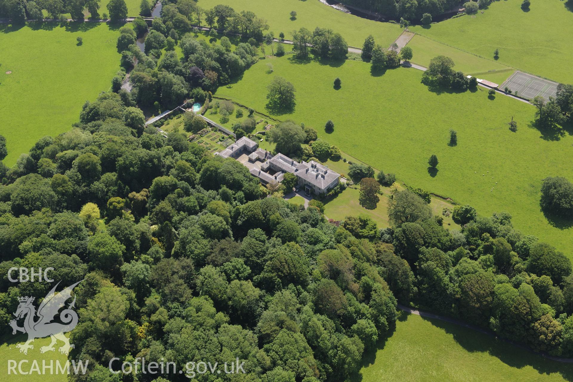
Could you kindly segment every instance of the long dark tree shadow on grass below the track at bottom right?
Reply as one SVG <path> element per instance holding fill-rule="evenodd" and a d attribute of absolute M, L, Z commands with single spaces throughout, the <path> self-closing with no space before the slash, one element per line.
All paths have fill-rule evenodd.
<path fill-rule="evenodd" d="M 522 348 L 497 337 L 478 333 L 473 329 L 464 328 L 450 322 L 427 317 L 422 317 L 422 320 L 428 321 L 435 327 L 451 334 L 454 340 L 468 352 L 487 352 L 490 356 L 496 357 L 509 367 L 521 369 L 530 366 L 538 373 L 544 375 L 560 373 L 564 379 L 573 381 L 573 365 L 571 364 L 545 359 L 532 353 L 527 348 Z"/>

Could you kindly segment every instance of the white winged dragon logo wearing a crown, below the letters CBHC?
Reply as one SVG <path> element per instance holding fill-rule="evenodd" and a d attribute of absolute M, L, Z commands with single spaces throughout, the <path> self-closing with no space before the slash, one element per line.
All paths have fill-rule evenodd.
<path fill-rule="evenodd" d="M 15 320 L 10 321 L 10 326 L 12 327 L 12 334 L 17 332 L 28 333 L 28 340 L 24 344 L 16 345 L 20 349 L 20 353 L 28 354 L 28 349 L 34 349 L 34 345 L 30 345 L 35 338 L 43 338 L 50 336 L 52 338 L 52 343 L 48 346 L 42 346 L 40 348 L 40 353 L 45 353 L 48 351 L 55 351 L 54 345 L 56 345 L 56 340 L 64 342 L 59 350 L 60 353 L 68 355 L 70 349 L 74 348 L 73 344 L 70 344 L 68 338 L 64 336 L 64 333 L 69 332 L 77 325 L 77 313 L 72 310 L 74 308 L 74 303 L 76 298 L 70 305 L 68 309 L 62 310 L 60 313 L 60 322 L 52 322 L 54 316 L 60 312 L 61 308 L 64 308 L 66 300 L 72 297 L 72 289 L 78 285 L 81 281 L 68 286 L 68 288 L 62 290 L 60 293 L 56 294 L 56 288 L 60 282 L 58 282 L 52 290 L 48 293 L 48 296 L 44 298 L 42 304 L 36 312 L 36 308 L 32 304 L 34 302 L 34 297 L 20 297 L 18 309 L 14 313 L 16 317 Z M 20 327 L 16 320 L 26 316 L 24 319 L 24 326 Z M 38 316 L 38 320 L 34 321 L 35 317 Z"/>

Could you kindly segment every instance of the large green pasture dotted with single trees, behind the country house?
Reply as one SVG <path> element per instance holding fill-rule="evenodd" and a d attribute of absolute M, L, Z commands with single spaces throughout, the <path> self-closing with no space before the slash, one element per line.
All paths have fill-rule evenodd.
<path fill-rule="evenodd" d="M 573 137 L 537 129 L 532 105 L 500 94 L 489 99 L 480 87 L 464 93 L 430 91 L 420 82 L 422 72 L 410 68 L 374 77 L 370 65 L 359 61 L 340 66 L 301 64 L 289 57 L 265 61 L 272 62 L 273 73 L 258 62 L 217 95 L 273 114 L 265 107 L 265 87 L 282 76 L 296 88 L 296 108 L 274 111 L 275 117 L 304 122 L 343 152 L 393 172 L 410 186 L 470 204 L 481 215 L 508 211 L 524 234 L 573 257 L 571 225 L 548 220 L 539 207 L 542 179 L 573 179 Z M 339 90 L 332 85 L 336 77 L 342 80 Z M 512 116 L 516 133 L 508 129 Z M 330 134 L 324 131 L 329 119 L 335 124 Z M 450 128 L 458 133 L 456 147 L 448 145 Z M 428 171 L 433 153 L 437 174 Z"/>

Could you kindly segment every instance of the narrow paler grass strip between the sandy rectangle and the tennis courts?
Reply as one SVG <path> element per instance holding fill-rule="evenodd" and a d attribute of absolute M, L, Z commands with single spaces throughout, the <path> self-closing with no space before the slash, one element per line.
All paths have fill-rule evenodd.
<path fill-rule="evenodd" d="M 429 66 L 430 60 L 438 55 L 448 56 L 454 60 L 455 70 L 460 70 L 464 74 L 472 74 L 478 78 L 496 82 L 501 82 L 511 76 L 515 69 L 508 68 L 493 60 L 475 56 L 474 54 L 464 52 L 463 50 L 452 48 L 451 46 L 441 44 L 430 40 L 429 38 L 417 34 L 410 40 L 408 46 L 412 48 L 414 57 L 411 62 L 422 66 Z M 439 52 L 439 53 L 438 53 Z M 493 71 L 494 70 L 494 71 Z M 497 82 L 500 81 L 501 82 Z"/>

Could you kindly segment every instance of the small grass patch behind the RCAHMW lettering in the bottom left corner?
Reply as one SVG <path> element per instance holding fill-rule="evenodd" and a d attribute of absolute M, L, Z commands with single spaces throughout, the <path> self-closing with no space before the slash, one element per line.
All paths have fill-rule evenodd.
<path fill-rule="evenodd" d="M 68 334 L 66 334 L 68 336 Z M 62 342 L 58 341 L 58 344 L 54 347 L 56 348 L 53 352 L 40 353 L 40 348 L 42 346 L 47 346 L 50 344 L 50 338 L 36 338 L 32 345 L 34 349 L 28 350 L 28 355 L 20 353 L 20 349 L 16 348 L 17 344 L 22 344 L 26 341 L 27 336 L 24 334 L 19 334 L 14 336 L 13 334 L 6 334 L 0 338 L 0 374 L 3 378 L 6 378 L 5 382 L 30 382 L 30 381 L 42 381 L 42 382 L 66 382 L 68 380 L 67 375 L 56 374 L 56 362 L 59 362 L 62 367 L 64 367 L 68 357 L 62 355 L 58 351 L 58 347 L 62 345 Z M 46 365 L 50 365 L 50 360 L 53 360 L 53 374 L 50 374 L 50 369 L 46 369 L 46 374 L 38 375 L 38 372 L 33 372 L 31 375 L 21 375 L 18 372 L 18 367 L 15 371 L 17 374 L 10 372 L 8 374 L 8 362 L 9 360 L 14 360 L 19 363 L 21 360 L 28 360 L 28 363 L 22 363 L 22 371 L 29 372 L 32 368 L 33 361 L 37 361 L 40 366 L 40 372 L 42 372 L 42 360 L 46 360 Z M 73 368 L 70 365 L 70 371 Z"/>

